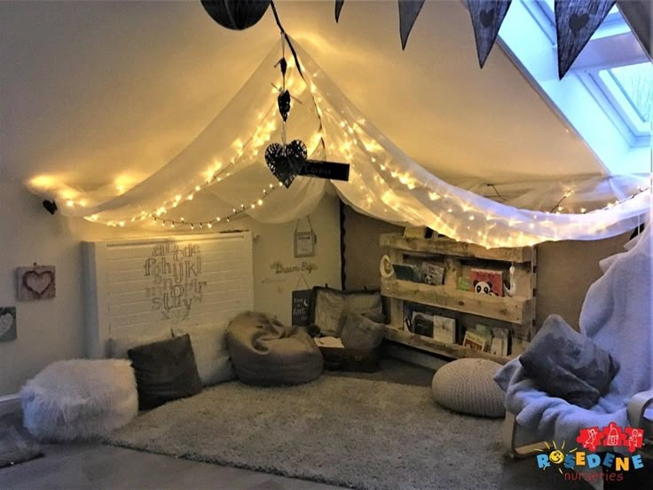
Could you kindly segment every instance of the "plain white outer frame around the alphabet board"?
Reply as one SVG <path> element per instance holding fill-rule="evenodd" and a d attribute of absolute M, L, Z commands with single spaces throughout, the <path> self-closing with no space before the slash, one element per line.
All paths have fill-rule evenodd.
<path fill-rule="evenodd" d="M 118 241 L 83 241 L 84 286 L 86 298 L 86 354 L 91 359 L 106 357 L 106 345 L 111 336 L 108 304 L 108 270 L 107 251 L 112 247 L 165 243 L 168 241 L 216 241 L 242 240 L 242 246 L 248 251 L 246 257 L 247 273 L 242 277 L 245 290 L 248 291 L 246 308 L 254 309 L 254 249 L 252 233 L 198 233 L 162 237 L 144 237 L 133 240 Z"/>

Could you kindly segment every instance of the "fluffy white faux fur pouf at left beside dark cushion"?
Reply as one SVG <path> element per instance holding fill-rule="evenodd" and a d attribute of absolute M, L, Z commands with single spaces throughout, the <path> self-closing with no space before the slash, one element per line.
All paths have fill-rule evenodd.
<path fill-rule="evenodd" d="M 36 439 L 106 435 L 138 414 L 129 360 L 59 360 L 20 390 L 25 428 Z"/>

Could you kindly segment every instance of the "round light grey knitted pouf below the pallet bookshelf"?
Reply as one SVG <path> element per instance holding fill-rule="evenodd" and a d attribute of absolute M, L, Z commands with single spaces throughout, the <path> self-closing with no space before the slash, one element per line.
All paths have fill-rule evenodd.
<path fill-rule="evenodd" d="M 454 360 L 433 376 L 433 396 L 437 403 L 454 412 L 502 417 L 506 411 L 505 394 L 492 379 L 500 368 L 492 360 Z"/>

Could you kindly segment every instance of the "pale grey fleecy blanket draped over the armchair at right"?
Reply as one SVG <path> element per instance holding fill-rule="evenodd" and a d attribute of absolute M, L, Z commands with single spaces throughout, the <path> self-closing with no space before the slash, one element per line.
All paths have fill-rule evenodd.
<path fill-rule="evenodd" d="M 594 407 L 577 407 L 541 390 L 519 359 L 508 362 L 495 376 L 506 391 L 507 410 L 539 437 L 575 444 L 581 428 L 605 427 L 610 422 L 628 425 L 628 399 L 653 385 L 650 228 L 632 249 L 604 259 L 602 277 L 587 291 L 580 314 L 581 333 L 610 352 L 621 366 Z"/>

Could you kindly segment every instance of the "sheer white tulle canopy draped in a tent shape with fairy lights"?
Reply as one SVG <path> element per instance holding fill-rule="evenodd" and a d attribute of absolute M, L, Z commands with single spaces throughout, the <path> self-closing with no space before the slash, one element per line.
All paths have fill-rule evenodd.
<path fill-rule="evenodd" d="M 288 89 L 297 99 L 288 117 L 287 140 L 303 140 L 311 158 L 350 163 L 350 181 L 333 185 L 342 200 L 359 212 L 397 224 L 426 225 L 485 247 L 606 238 L 632 230 L 650 212 L 648 175 L 569 181 L 552 176 L 550 181 L 530 185 L 466 182 L 453 186 L 389 141 L 301 46 L 294 45 L 305 81 L 287 53 Z M 279 82 L 274 65 L 280 56 L 279 44 L 197 138 L 123 194 L 116 195 L 112 184 L 82 194 L 75 190 L 75 202 L 67 206 L 59 200 L 70 189 L 61 183 L 32 182 L 30 188 L 57 199 L 68 216 L 111 225 L 137 224 L 157 212 L 161 218 L 178 219 L 184 216 L 181 210 L 189 197 L 195 200 L 193 215 L 197 216 L 186 217 L 186 222 L 207 222 L 240 205 L 249 209 L 271 184 L 275 191 L 249 215 L 268 223 L 305 216 L 318 205 L 328 181 L 298 177 L 289 189 L 279 188 L 264 162 L 266 146 L 282 137 L 278 92 L 271 87 L 271 82 Z"/>

